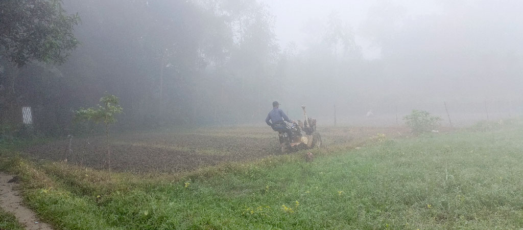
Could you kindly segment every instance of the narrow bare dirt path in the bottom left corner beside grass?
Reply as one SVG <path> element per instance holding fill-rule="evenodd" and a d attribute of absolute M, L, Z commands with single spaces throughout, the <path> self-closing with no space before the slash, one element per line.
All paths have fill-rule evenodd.
<path fill-rule="evenodd" d="M 52 230 L 51 226 L 42 223 L 36 217 L 35 212 L 22 206 L 22 198 L 18 191 L 14 189 L 17 184 L 13 176 L 0 172 L 0 206 L 10 213 L 13 213 L 17 220 L 30 230 Z M 12 181 L 12 182 L 9 182 Z"/>

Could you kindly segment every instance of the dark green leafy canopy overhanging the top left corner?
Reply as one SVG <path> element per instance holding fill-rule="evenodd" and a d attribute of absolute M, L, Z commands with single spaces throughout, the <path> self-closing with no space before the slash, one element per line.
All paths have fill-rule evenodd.
<path fill-rule="evenodd" d="M 0 1 L 0 55 L 22 67 L 31 60 L 63 63 L 78 45 L 62 0 Z"/>

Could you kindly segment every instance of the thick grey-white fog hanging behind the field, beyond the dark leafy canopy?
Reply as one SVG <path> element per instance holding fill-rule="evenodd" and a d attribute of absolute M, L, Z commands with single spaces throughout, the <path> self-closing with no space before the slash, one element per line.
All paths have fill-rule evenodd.
<path fill-rule="evenodd" d="M 31 106 L 67 134 L 72 110 L 120 98 L 121 129 L 390 126 L 412 109 L 455 125 L 523 112 L 520 1 L 65 0 L 80 42 L 61 65 L 0 65 L 4 124 Z M 5 48 L 2 49 L 5 56 Z M 366 118 L 372 110 L 374 118 Z M 10 112 L 17 111 L 17 112 Z M 396 120 L 396 117 L 398 119 Z M 447 125 L 443 122 L 442 125 Z"/>

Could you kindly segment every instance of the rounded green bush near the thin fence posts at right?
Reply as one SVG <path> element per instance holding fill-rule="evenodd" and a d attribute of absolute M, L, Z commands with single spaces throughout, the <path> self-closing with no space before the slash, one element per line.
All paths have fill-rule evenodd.
<path fill-rule="evenodd" d="M 412 113 L 404 116 L 403 119 L 405 124 L 412 128 L 412 133 L 414 134 L 431 132 L 442 121 L 439 116 L 433 116 L 427 111 L 417 109 L 413 109 Z"/>

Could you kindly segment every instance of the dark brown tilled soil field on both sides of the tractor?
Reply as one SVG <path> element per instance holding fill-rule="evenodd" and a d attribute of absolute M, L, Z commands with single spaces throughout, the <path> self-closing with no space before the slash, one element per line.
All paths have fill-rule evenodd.
<path fill-rule="evenodd" d="M 327 127 L 319 129 L 325 148 L 361 145 L 379 133 L 388 138 L 408 135 L 401 127 Z M 104 137 L 64 138 L 23 151 L 36 159 L 67 161 L 108 168 Z M 269 127 L 198 128 L 117 134 L 111 137 L 111 169 L 179 172 L 232 161 L 280 155 L 278 134 Z"/>

